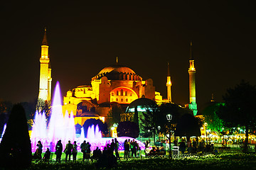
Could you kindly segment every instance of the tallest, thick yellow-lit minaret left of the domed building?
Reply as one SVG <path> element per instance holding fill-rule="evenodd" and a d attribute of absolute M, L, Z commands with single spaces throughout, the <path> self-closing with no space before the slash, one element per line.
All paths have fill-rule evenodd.
<path fill-rule="evenodd" d="M 41 45 L 41 58 L 40 58 L 40 82 L 39 82 L 39 94 L 38 99 L 50 102 L 51 94 L 51 69 L 49 67 L 49 55 L 48 55 L 48 42 L 46 38 L 46 28 L 43 35 L 43 42 Z"/>

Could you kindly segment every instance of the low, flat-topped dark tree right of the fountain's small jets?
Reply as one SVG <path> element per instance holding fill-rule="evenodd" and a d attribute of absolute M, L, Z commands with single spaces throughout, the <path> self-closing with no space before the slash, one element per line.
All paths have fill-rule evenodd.
<path fill-rule="evenodd" d="M 126 121 L 120 122 L 117 126 L 118 137 L 139 137 L 139 126 L 137 123 Z"/>

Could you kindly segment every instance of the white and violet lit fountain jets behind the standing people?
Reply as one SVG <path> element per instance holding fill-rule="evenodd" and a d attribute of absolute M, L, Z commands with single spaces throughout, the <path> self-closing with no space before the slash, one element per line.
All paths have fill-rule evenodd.
<path fill-rule="evenodd" d="M 31 133 L 31 147 L 32 152 L 36 152 L 36 144 L 38 140 L 41 140 L 43 145 L 43 151 L 46 151 L 47 148 L 50 148 L 52 152 L 55 152 L 55 145 L 58 140 L 61 140 L 63 144 L 63 149 L 68 143 L 68 140 L 73 143 L 77 142 L 78 151 L 80 151 L 80 145 L 84 140 L 90 142 L 91 150 L 99 147 L 101 150 L 107 144 L 112 142 L 111 137 L 102 137 L 102 133 L 98 125 L 91 125 L 87 129 L 87 137 L 84 136 L 84 130 L 82 128 L 80 137 L 75 136 L 75 121 L 73 112 L 65 111 L 63 116 L 62 104 L 61 104 L 61 95 L 60 95 L 60 84 L 57 82 L 55 86 L 55 93 L 53 96 L 53 105 L 51 109 L 50 121 L 46 123 L 45 113 L 35 113 L 35 119 L 33 124 L 33 129 Z M 47 128 L 48 127 L 48 128 Z M 124 149 L 124 140 L 134 140 L 132 137 L 117 137 L 119 141 L 119 149 Z M 144 144 L 139 140 L 136 140 L 141 149 L 144 149 Z"/>

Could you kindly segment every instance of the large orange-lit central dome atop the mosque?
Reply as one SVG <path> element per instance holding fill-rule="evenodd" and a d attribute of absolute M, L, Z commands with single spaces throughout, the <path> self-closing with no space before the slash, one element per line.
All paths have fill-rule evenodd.
<path fill-rule="evenodd" d="M 92 80 L 102 77 L 107 77 L 109 80 L 142 80 L 142 77 L 139 77 L 132 69 L 119 64 L 105 67 L 95 77 L 92 77 Z"/>

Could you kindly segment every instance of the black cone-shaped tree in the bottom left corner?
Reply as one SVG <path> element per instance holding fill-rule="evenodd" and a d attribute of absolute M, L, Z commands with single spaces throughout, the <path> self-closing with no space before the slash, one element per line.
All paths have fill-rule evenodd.
<path fill-rule="evenodd" d="M 14 105 L 0 144 L 0 166 L 26 169 L 31 164 L 31 154 L 25 111 L 21 105 Z"/>

